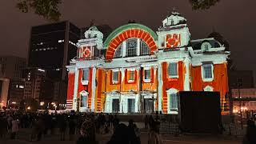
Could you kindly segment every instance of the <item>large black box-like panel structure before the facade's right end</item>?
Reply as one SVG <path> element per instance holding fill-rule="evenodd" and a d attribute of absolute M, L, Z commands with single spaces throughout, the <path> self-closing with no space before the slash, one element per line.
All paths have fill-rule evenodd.
<path fill-rule="evenodd" d="M 181 91 L 178 95 L 178 114 L 184 132 L 218 133 L 221 124 L 219 92 Z"/>

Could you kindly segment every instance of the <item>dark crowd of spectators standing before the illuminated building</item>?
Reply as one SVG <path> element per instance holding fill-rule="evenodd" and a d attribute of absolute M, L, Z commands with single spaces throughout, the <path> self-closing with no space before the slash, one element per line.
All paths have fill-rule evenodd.
<path fill-rule="evenodd" d="M 145 117 L 145 128 L 149 131 L 149 144 L 161 144 L 158 117 Z M 132 119 L 128 126 L 119 121 L 116 114 L 48 114 L 5 112 L 0 114 L 0 137 L 17 138 L 20 128 L 30 130 L 30 141 L 40 141 L 47 135 L 60 135 L 60 140 L 76 140 L 77 143 L 96 144 L 97 134 L 112 134 L 107 144 L 140 144 L 141 132 Z M 56 131 L 58 130 L 58 131 Z M 67 135 L 68 134 L 68 135 Z M 78 136 L 78 138 L 76 137 Z M 68 139 L 67 139 L 68 138 Z"/>

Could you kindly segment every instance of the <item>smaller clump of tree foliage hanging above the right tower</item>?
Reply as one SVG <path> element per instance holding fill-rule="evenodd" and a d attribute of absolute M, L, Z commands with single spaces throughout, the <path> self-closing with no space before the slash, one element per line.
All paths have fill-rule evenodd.
<path fill-rule="evenodd" d="M 207 10 L 214 6 L 220 0 L 190 0 L 193 10 Z"/>

